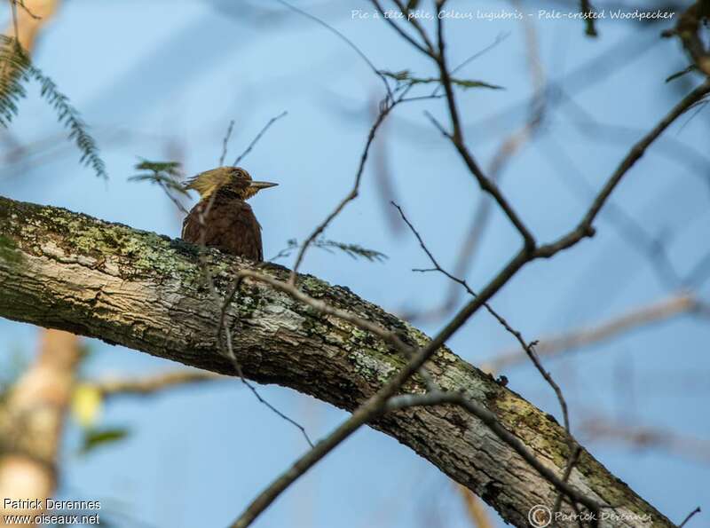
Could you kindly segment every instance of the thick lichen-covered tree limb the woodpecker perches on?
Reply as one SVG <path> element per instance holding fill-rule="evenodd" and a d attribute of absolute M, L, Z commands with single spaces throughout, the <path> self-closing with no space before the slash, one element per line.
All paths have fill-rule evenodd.
<path fill-rule="evenodd" d="M 68 330 L 223 374 L 232 362 L 219 353 L 220 307 L 206 287 L 198 248 L 153 232 L 109 224 L 65 209 L 0 197 L 0 316 Z M 4 256 L 4 258 L 3 258 Z M 250 264 L 209 251 L 217 292 Z M 288 270 L 264 266 L 281 280 Z M 300 275 L 308 295 L 395 330 L 411 344 L 419 330 L 355 296 Z M 352 410 L 372 395 L 405 359 L 379 338 L 264 283 L 245 280 L 229 306 L 227 326 L 244 374 L 278 383 Z M 442 347 L 427 365 L 442 390 L 463 390 L 496 414 L 540 461 L 564 471 L 564 429 L 555 419 Z M 421 380 L 406 391 L 423 391 Z M 477 419 L 452 406 L 414 408 L 384 416 L 372 427 L 395 437 L 493 506 L 504 520 L 528 525 L 534 505 L 552 507 L 556 491 Z M 570 483 L 615 507 L 603 526 L 673 526 L 587 451 Z M 568 520 L 560 525 L 576 526 Z"/>

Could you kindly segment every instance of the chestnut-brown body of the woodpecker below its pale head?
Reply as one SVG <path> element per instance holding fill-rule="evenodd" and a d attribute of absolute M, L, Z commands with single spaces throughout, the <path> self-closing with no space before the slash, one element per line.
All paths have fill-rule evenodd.
<path fill-rule="evenodd" d="M 201 213 L 209 200 L 193 207 L 183 222 L 183 240 L 217 248 L 224 253 L 244 256 L 255 262 L 264 260 L 261 242 L 261 225 L 246 201 L 233 197 L 215 197 L 207 216 L 201 222 Z M 202 225 L 203 224 L 203 225 Z"/>

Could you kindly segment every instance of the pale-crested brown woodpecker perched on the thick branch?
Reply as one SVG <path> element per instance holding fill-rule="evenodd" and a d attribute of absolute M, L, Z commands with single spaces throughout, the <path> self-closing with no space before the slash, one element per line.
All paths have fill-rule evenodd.
<path fill-rule="evenodd" d="M 247 200 L 275 185 L 254 181 L 240 167 L 217 167 L 189 178 L 184 189 L 200 193 L 200 201 L 183 221 L 182 239 L 262 262 L 261 225 Z"/>

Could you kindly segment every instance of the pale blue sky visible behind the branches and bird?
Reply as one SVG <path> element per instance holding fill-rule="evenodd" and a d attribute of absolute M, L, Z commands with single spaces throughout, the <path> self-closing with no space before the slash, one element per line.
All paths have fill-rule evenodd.
<path fill-rule="evenodd" d="M 326 29 L 276 2 L 245 5 L 249 9 L 188 0 L 62 5 L 43 32 L 36 64 L 90 123 L 110 179 L 101 181 L 80 167 L 75 148 L 59 142 L 24 163 L 6 163 L 0 193 L 177 236 L 181 218 L 170 201 L 157 187 L 127 181 L 138 156 L 177 159 L 188 174 L 210 169 L 217 164 L 230 120 L 236 124 L 228 160 L 265 122 L 288 111 L 243 166 L 258 179 L 280 183 L 253 201 L 264 227 L 264 254 L 274 255 L 288 239 L 304 239 L 350 189 L 382 85 Z M 376 67 L 434 75 L 430 64 L 382 20 L 352 20 L 345 2 L 298 5 L 347 35 Z M 511 8 L 485 3 L 480 9 Z M 574 192 L 580 177 L 595 189 L 603 185 L 635 140 L 698 78 L 664 82 L 687 63 L 678 43 L 659 38 L 667 25 L 601 20 L 600 37 L 588 39 L 577 21 L 533 17 L 531 23 L 546 79 L 558 82 L 573 103 L 550 103 L 539 136 L 511 160 L 501 187 L 539 239 L 552 240 L 576 224 L 591 199 Z M 501 140 L 525 121 L 532 88 L 524 28 L 517 20 L 452 20 L 447 35 L 452 64 L 501 38 L 461 71 L 462 77 L 505 87 L 459 97 L 469 146 L 485 167 Z M 591 75 L 579 73 L 578 68 L 599 57 Z M 375 143 L 375 162 L 365 171 L 359 199 L 327 230 L 327 238 L 375 248 L 390 258 L 368 264 L 314 249 L 303 267 L 397 313 L 437 304 L 448 284 L 441 276 L 410 271 L 428 263 L 383 205 L 373 169 L 377 160 L 385 160 L 397 201 L 446 267 L 454 265 L 479 196 L 453 148 L 422 114 L 425 109 L 446 122 L 441 102 L 398 108 L 385 136 Z M 11 133 L 26 143 L 63 134 L 34 89 L 22 101 Z M 653 236 L 667 240 L 681 272 L 708 250 L 707 133 L 707 110 L 693 119 L 682 117 L 612 198 Z M 695 154 L 679 155 L 676 143 Z M 699 161 L 690 166 L 690 158 Z M 495 308 L 529 339 L 593 325 L 675 292 L 659 280 L 648 257 L 619 234 L 618 222 L 604 213 L 596 225 L 594 240 L 530 265 L 494 298 Z M 505 219 L 494 213 L 466 277 L 469 284 L 485 285 L 518 243 Z M 706 296 L 707 288 L 696 293 Z M 432 334 L 444 322 L 417 324 Z M 36 348 L 32 327 L 0 320 L 0 332 L 6 358 L 12 351 L 30 354 Z M 706 319 L 684 317 L 549 360 L 546 366 L 567 395 L 573 427 L 601 415 L 705 439 L 707 445 L 710 424 L 702 408 L 710 392 L 708 338 Z M 177 367 L 122 347 L 90 344 L 96 353 L 85 365 L 87 376 L 144 375 Z M 514 343 L 480 313 L 449 345 L 479 364 Z M 504 374 L 513 390 L 559 419 L 554 394 L 531 366 Z M 312 437 L 327 434 L 345 416 L 291 390 L 260 390 Z M 130 518 L 118 525 L 225 525 L 306 447 L 296 429 L 259 405 L 239 382 L 116 399 L 106 406 L 101 422 L 130 428 L 130 437 L 80 457 L 78 432 L 70 428 L 61 493 L 104 500 L 116 516 L 120 512 Z M 675 521 L 710 499 L 707 458 L 703 463 L 679 453 L 640 452 L 619 442 L 590 442 L 588 448 Z M 492 516 L 501 523 L 493 511 Z M 470 524 L 438 469 L 389 437 L 363 429 L 255 525 Z"/>

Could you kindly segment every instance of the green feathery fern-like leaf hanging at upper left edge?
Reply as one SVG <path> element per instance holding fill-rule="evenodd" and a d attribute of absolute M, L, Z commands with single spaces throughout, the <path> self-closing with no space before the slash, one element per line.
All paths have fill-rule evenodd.
<path fill-rule="evenodd" d="M 91 165 L 97 176 L 107 178 L 106 165 L 99 157 L 99 147 L 67 96 L 57 90 L 50 77 L 32 64 L 15 38 L 0 35 L 0 124 L 5 128 L 18 114 L 18 103 L 27 96 L 23 83 L 30 80 L 40 84 L 40 93 L 54 109 L 59 124 L 69 130 L 69 139 L 74 139 L 82 152 L 80 162 Z"/>

